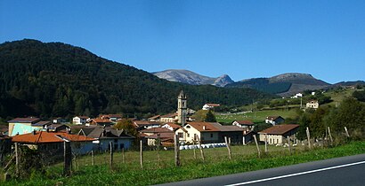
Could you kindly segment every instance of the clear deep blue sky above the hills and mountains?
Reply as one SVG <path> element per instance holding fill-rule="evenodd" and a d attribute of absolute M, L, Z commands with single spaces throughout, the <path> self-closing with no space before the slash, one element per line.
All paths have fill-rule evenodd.
<path fill-rule="evenodd" d="M 362 0 L 0 0 L 0 43 L 69 43 L 147 72 L 365 81 L 364 10 Z"/>

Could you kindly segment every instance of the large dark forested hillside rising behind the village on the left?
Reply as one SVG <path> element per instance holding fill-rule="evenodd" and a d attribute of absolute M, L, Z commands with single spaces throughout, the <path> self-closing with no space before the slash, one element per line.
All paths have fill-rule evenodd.
<path fill-rule="evenodd" d="M 191 86 L 100 58 L 64 43 L 0 44 L 0 117 L 43 118 L 99 113 L 173 112 L 183 89 L 189 107 L 207 102 L 245 105 L 272 95 L 254 89 Z"/>

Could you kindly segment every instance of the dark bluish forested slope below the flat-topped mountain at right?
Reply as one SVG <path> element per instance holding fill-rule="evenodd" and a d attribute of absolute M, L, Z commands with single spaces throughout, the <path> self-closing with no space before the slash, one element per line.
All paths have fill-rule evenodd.
<path fill-rule="evenodd" d="M 278 94 L 288 91 L 290 82 L 270 82 L 268 78 L 255 78 L 247 81 L 238 81 L 226 85 L 227 88 L 251 88 L 270 94 Z"/>

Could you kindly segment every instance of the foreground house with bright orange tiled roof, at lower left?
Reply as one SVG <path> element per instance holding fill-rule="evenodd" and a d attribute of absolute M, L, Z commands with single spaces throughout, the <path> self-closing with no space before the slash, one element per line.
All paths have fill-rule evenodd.
<path fill-rule="evenodd" d="M 12 136 L 12 143 L 20 143 L 45 155 L 63 157 L 63 143 L 70 142 L 74 154 L 86 154 L 93 150 L 94 138 L 71 135 L 68 132 L 33 131 L 24 135 Z M 56 158 L 55 158 L 56 159 Z"/>

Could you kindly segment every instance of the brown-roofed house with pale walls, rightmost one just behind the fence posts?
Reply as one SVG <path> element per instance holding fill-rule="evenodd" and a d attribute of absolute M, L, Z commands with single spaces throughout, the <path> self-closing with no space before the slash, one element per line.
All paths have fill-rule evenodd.
<path fill-rule="evenodd" d="M 271 128 L 266 128 L 261 132 L 258 132 L 260 135 L 260 141 L 265 141 L 265 136 L 267 137 L 267 143 L 269 144 L 282 144 L 287 142 L 287 137 L 292 137 L 292 140 L 296 140 L 296 132 L 299 128 L 299 125 L 296 124 L 282 124 L 275 125 Z"/>

